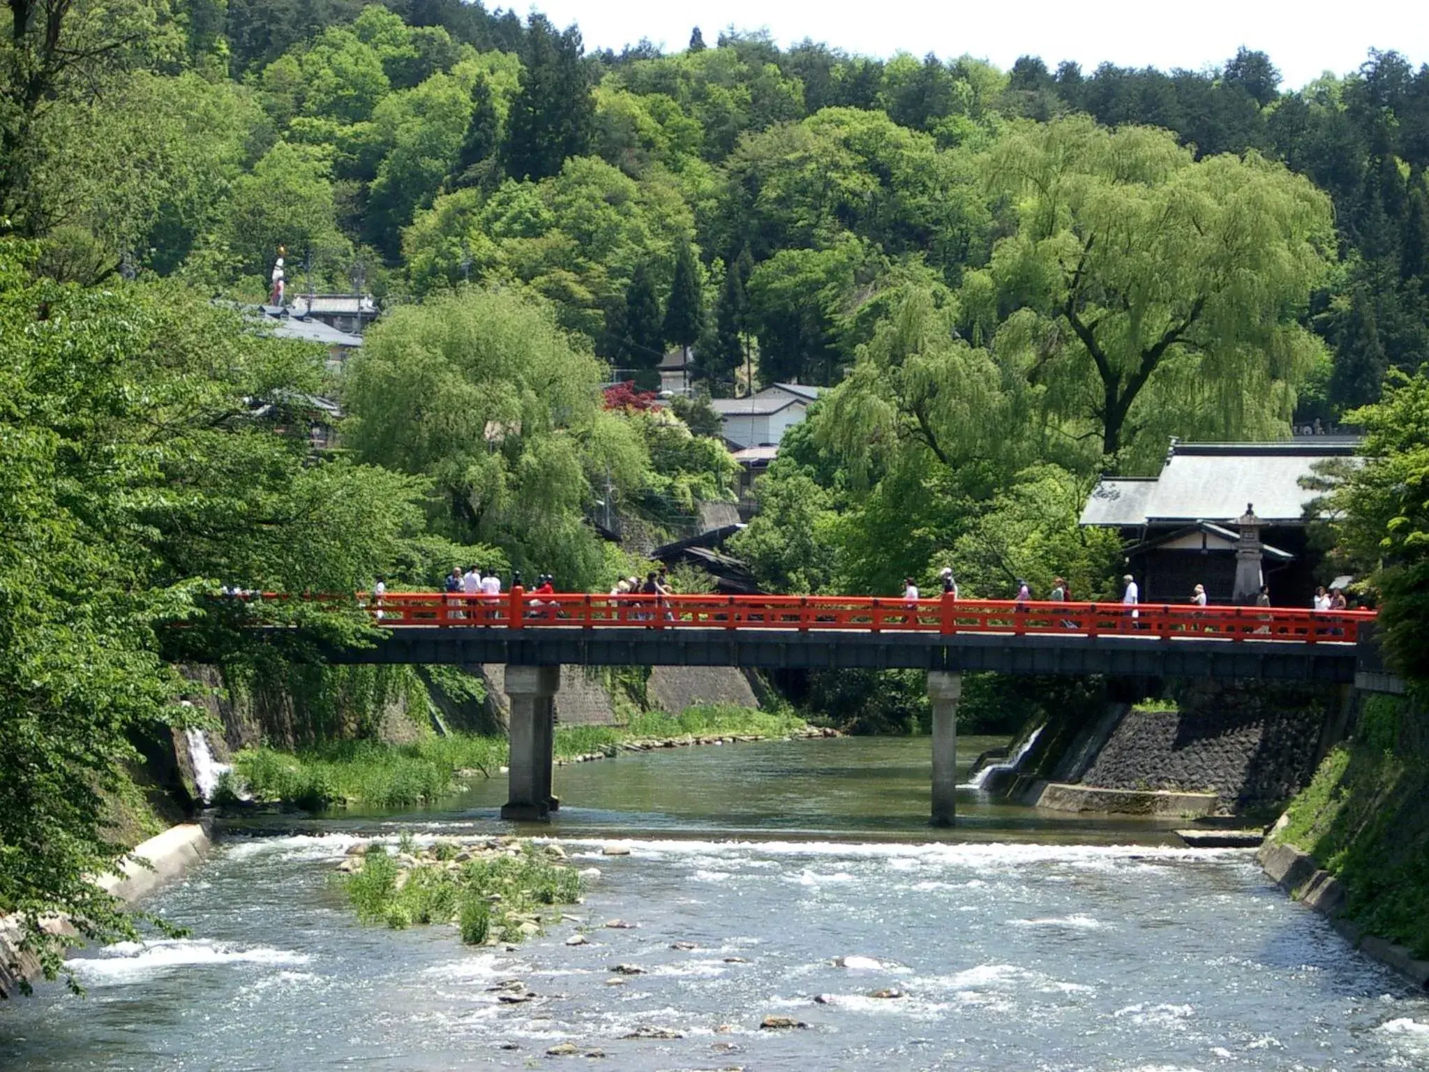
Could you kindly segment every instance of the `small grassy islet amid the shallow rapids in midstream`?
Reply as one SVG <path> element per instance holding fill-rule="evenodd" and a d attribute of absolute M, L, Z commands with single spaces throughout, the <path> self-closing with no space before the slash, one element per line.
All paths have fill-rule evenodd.
<path fill-rule="evenodd" d="M 402 930 L 427 923 L 456 923 L 462 941 L 520 942 L 522 923 L 540 928 L 542 913 L 580 899 L 580 875 L 530 843 L 519 855 L 479 855 L 460 868 L 446 866 L 454 845 L 437 845 L 403 868 L 382 845 L 367 849 L 362 870 L 343 879 L 347 900 L 366 923 Z M 412 860 L 407 860 L 410 865 Z M 406 879 L 402 875 L 406 873 Z"/>

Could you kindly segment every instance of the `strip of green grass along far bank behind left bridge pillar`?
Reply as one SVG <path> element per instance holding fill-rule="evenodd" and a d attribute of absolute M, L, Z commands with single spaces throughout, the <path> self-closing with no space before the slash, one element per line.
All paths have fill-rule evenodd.
<path fill-rule="evenodd" d="M 679 716 L 633 713 L 624 726 L 557 726 L 556 759 L 576 760 L 610 753 L 633 742 L 684 742 L 712 736 L 783 738 L 809 732 L 809 725 L 782 710 L 702 705 Z M 463 782 L 490 778 L 506 763 L 504 736 L 452 733 L 410 745 L 376 740 L 336 742 L 300 752 L 246 749 L 233 758 L 220 800 L 252 796 L 316 810 L 369 805 L 400 808 L 430 803 Z"/>

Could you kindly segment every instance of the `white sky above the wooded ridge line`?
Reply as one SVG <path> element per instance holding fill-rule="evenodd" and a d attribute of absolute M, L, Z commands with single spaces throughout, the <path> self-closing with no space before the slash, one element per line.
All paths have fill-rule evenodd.
<path fill-rule="evenodd" d="M 524 13 L 524 1 L 503 6 Z M 496 6 L 487 0 L 487 10 Z M 537 0 L 534 7 L 560 27 L 579 23 L 586 49 L 617 51 L 640 37 L 677 51 L 694 26 L 713 46 L 735 26 L 767 29 L 782 46 L 812 37 L 865 56 L 970 53 L 1003 70 L 1032 54 L 1053 70 L 1076 60 L 1090 73 L 1103 60 L 1198 70 L 1245 44 L 1269 53 L 1290 89 L 1325 70 L 1359 67 L 1370 47 L 1393 49 L 1416 69 L 1429 61 L 1425 0 Z"/>

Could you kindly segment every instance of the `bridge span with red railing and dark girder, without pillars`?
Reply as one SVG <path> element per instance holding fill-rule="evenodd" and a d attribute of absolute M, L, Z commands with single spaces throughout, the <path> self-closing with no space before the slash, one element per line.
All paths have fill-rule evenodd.
<path fill-rule="evenodd" d="M 1370 612 L 829 596 L 392 593 L 333 662 L 743 666 L 1348 683 Z M 1366 630 L 1369 632 L 1369 630 Z"/>

